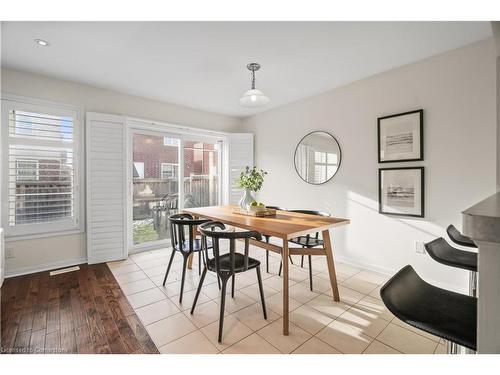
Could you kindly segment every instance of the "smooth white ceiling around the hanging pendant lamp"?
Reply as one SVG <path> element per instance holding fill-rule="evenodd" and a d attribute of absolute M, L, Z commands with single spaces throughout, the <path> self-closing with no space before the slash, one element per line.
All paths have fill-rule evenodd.
<path fill-rule="evenodd" d="M 245 117 L 491 35 L 489 22 L 3 22 L 2 66 Z M 249 62 L 265 107 L 238 104 Z"/>

